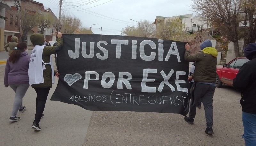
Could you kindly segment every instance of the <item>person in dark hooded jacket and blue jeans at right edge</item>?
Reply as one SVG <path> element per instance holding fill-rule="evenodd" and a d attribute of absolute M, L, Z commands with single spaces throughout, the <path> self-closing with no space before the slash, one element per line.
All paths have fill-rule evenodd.
<path fill-rule="evenodd" d="M 245 47 L 244 54 L 250 61 L 239 69 L 233 87 L 242 92 L 240 104 L 245 146 L 256 146 L 256 43 Z"/>

